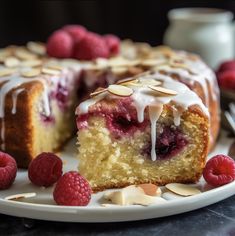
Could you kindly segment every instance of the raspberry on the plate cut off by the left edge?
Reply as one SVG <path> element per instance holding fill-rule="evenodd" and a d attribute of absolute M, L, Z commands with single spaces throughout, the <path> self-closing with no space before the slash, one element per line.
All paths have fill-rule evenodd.
<path fill-rule="evenodd" d="M 15 159 L 4 152 L 0 152 L 0 189 L 7 189 L 13 184 L 16 172 Z"/>

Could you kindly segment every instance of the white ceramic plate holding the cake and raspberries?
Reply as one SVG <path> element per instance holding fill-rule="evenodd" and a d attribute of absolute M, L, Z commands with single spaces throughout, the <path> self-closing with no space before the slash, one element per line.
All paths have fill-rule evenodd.
<path fill-rule="evenodd" d="M 231 142 L 232 139 L 228 139 L 226 133 L 222 132 L 221 138 L 210 156 L 219 153 L 227 154 Z M 65 161 L 64 171 L 76 170 L 77 160 L 75 159 L 75 154 L 75 140 L 72 140 L 62 153 L 62 158 Z M 8 190 L 0 192 L 0 213 L 33 219 L 68 222 L 131 221 L 169 216 L 195 210 L 235 194 L 235 182 L 210 189 L 204 180 L 201 180 L 197 186 L 202 190 L 202 193 L 198 195 L 179 197 L 173 193 L 167 193 L 164 194 L 164 197 L 168 199 L 166 203 L 147 207 L 137 205 L 101 206 L 100 203 L 102 202 L 104 192 L 94 194 L 87 207 L 66 207 L 55 205 L 52 198 L 52 188 L 45 189 L 33 186 L 27 178 L 27 171 L 20 170 L 13 186 Z M 24 201 L 4 200 L 6 196 L 25 192 L 36 192 L 37 195 Z"/>

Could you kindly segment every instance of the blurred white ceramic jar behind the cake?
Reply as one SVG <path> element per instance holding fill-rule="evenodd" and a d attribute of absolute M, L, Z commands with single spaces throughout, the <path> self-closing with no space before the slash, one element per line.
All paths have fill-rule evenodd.
<path fill-rule="evenodd" d="M 234 58 L 233 14 L 214 8 L 169 11 L 164 44 L 199 54 L 212 68 Z"/>

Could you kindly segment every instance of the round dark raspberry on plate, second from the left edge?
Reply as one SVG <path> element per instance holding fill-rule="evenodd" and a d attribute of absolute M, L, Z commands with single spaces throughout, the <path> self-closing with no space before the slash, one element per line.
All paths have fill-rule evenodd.
<path fill-rule="evenodd" d="M 43 152 L 31 161 L 28 177 L 37 186 L 49 187 L 61 177 L 62 165 L 58 156 Z"/>

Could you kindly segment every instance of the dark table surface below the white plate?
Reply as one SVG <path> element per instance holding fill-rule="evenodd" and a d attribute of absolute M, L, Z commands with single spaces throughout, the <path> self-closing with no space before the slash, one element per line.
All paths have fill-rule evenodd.
<path fill-rule="evenodd" d="M 180 215 L 123 223 L 61 223 L 0 215 L 0 235 L 235 236 L 235 196 Z"/>

